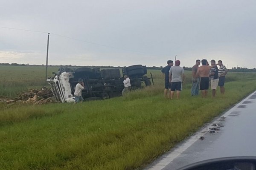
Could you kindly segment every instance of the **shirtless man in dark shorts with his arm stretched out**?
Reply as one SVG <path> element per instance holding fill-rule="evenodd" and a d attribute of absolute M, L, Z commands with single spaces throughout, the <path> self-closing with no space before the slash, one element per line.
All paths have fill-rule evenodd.
<path fill-rule="evenodd" d="M 200 90 L 202 91 L 202 97 L 205 98 L 207 97 L 208 89 L 209 89 L 209 72 L 210 69 L 215 65 L 209 66 L 207 65 L 207 60 L 202 59 L 202 66 L 198 68 L 198 71 L 196 73 L 196 76 L 200 76 L 201 81 L 200 81 Z"/>

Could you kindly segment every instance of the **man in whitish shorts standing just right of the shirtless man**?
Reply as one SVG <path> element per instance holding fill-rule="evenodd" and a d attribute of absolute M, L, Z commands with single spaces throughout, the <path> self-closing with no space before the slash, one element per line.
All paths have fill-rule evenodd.
<path fill-rule="evenodd" d="M 215 65 L 216 62 L 214 59 L 211 60 L 211 65 Z M 210 79 L 211 79 L 211 89 L 212 89 L 212 97 L 216 95 L 216 89 L 218 86 L 218 67 L 215 66 L 210 69 Z"/>

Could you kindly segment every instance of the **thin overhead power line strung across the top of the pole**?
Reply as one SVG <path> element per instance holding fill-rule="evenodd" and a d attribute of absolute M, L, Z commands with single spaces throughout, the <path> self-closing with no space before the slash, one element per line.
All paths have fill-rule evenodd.
<path fill-rule="evenodd" d="M 49 33 L 49 32 L 45 32 L 45 31 L 34 31 L 34 30 L 28 30 L 28 29 L 10 28 L 10 27 L 2 27 L 2 26 L 0 26 L 0 28 L 7 28 L 7 29 L 13 29 L 13 30 L 20 30 L 20 31 L 38 32 L 38 33 L 46 33 L 46 34 Z M 113 47 L 113 46 L 110 46 L 110 45 L 104 45 L 104 44 L 99 44 L 99 43 L 95 43 L 95 42 L 89 42 L 89 41 L 79 40 L 79 39 L 77 39 L 77 38 L 67 37 L 67 36 L 60 35 L 60 34 L 54 34 L 54 33 L 51 33 L 51 34 L 52 34 L 52 35 L 59 36 L 59 37 L 68 38 L 68 39 L 71 39 L 71 40 L 76 40 L 76 41 L 85 42 L 85 43 L 88 43 L 88 44 L 94 44 L 94 45 L 99 45 L 99 46 L 108 47 L 108 48 L 115 48 L 115 49 L 124 50 L 124 51 L 131 51 L 131 52 L 137 52 L 137 53 L 144 53 L 144 52 L 141 52 L 141 51 L 128 50 L 128 49 L 125 49 L 125 48 L 118 48 L 118 47 Z"/>

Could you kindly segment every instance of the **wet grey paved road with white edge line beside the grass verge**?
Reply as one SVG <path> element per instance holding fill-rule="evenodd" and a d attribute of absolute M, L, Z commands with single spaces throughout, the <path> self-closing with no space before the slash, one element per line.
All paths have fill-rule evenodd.
<path fill-rule="evenodd" d="M 256 92 L 146 170 L 176 170 L 198 161 L 228 156 L 256 156 Z"/>

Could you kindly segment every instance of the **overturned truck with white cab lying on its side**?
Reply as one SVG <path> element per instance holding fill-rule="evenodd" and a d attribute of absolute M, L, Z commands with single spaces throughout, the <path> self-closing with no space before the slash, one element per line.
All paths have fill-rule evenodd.
<path fill-rule="evenodd" d="M 83 79 L 84 90 L 82 96 L 85 101 L 96 99 L 107 99 L 121 96 L 124 88 L 124 75 L 131 79 L 133 90 L 154 84 L 152 74 L 147 77 L 147 68 L 143 65 L 131 65 L 119 68 L 59 68 L 57 73 L 53 73 L 47 82 L 52 86 L 52 92 L 57 101 L 75 102 L 74 92 L 78 79 Z M 122 76 L 121 76 L 122 75 Z"/>

